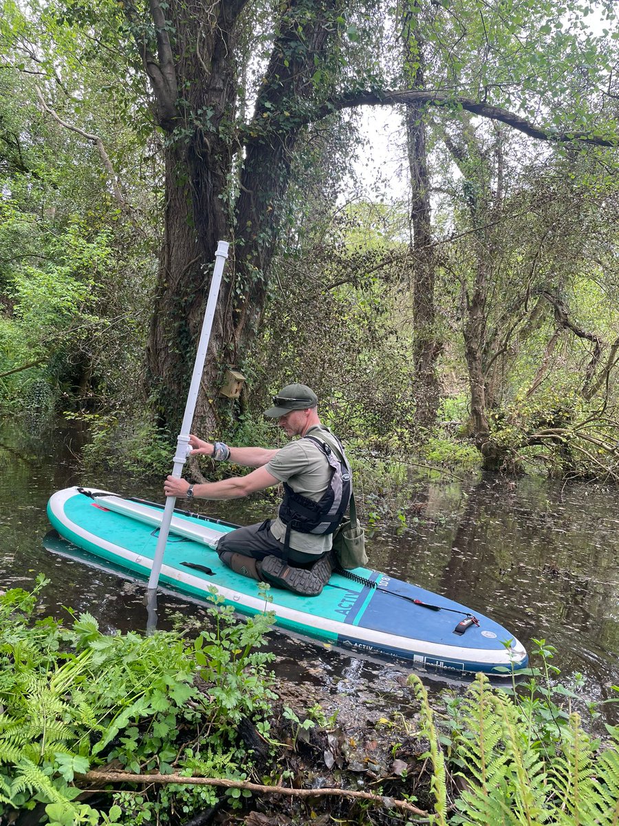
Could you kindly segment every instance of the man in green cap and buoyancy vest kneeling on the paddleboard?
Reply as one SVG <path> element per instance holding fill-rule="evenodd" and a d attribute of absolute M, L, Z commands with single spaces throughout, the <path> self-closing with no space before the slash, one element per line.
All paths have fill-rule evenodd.
<path fill-rule="evenodd" d="M 166 496 L 237 499 L 283 482 L 276 519 L 233 530 L 219 540 L 221 561 L 246 577 L 316 596 L 333 570 L 333 532 L 352 493 L 351 469 L 341 442 L 320 423 L 318 397 L 305 384 L 289 384 L 264 415 L 277 419 L 291 441 L 281 449 L 234 448 L 191 435 L 191 455 L 256 468 L 247 476 L 190 484 L 168 476 Z"/>

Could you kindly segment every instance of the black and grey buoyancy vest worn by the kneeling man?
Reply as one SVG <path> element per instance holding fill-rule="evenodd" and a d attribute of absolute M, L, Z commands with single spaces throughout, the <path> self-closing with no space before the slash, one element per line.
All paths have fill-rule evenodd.
<path fill-rule="evenodd" d="M 279 517 L 286 525 L 286 550 L 289 547 L 291 529 L 298 530 L 301 534 L 333 534 L 346 513 L 352 493 L 352 473 L 343 449 L 340 457 L 320 437 L 303 438 L 314 442 L 322 450 L 331 475 L 328 487 L 319 501 L 295 493 L 290 485 L 284 482 L 284 498 L 281 501 Z"/>

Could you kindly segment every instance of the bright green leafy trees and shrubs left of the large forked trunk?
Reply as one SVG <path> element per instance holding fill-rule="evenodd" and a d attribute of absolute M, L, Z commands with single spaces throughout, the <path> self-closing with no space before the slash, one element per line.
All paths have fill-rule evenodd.
<path fill-rule="evenodd" d="M 101 11 L 106 21 L 118 17 L 114 4 Z M 116 403 L 135 399 L 146 290 L 154 278 L 149 236 L 158 213 L 144 221 L 148 208 L 144 216 L 123 208 L 113 187 L 120 178 L 126 202 L 139 192 L 144 207 L 154 204 L 156 187 L 152 181 L 144 186 L 144 172 L 154 173 L 157 164 L 141 157 L 144 144 L 133 128 L 139 84 L 130 73 L 111 82 L 112 64 L 123 62 L 120 52 L 109 43 L 102 47 L 102 40 L 95 47 L 96 36 L 64 12 L 59 17 L 54 4 L 2 4 L 4 412 L 57 411 L 61 399 L 65 407 L 91 410 L 112 395 Z M 84 133 L 96 133 L 100 142 Z M 117 178 L 111 180 L 97 146 Z M 43 384 L 43 396 L 32 392 Z"/>

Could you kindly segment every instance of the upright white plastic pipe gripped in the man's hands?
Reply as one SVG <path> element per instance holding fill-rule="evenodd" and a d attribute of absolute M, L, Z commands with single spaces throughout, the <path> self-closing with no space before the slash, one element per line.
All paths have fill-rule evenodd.
<path fill-rule="evenodd" d="M 174 467 L 172 468 L 172 476 L 177 478 L 180 478 L 182 475 L 182 468 L 187 461 L 187 453 L 189 453 L 191 423 L 193 421 L 193 414 L 196 411 L 196 401 L 198 392 L 200 391 L 202 371 L 204 370 L 204 363 L 206 361 L 206 351 L 209 348 L 210 330 L 213 327 L 213 319 L 215 318 L 217 298 L 220 294 L 221 276 L 224 272 L 224 263 L 228 258 L 228 248 L 229 244 L 227 241 L 220 241 L 219 244 L 217 244 L 217 251 L 215 252 L 215 269 L 213 270 L 213 278 L 211 278 L 210 281 L 209 300 L 206 302 L 206 311 L 204 314 L 204 320 L 202 321 L 202 331 L 200 334 L 200 341 L 198 342 L 196 361 L 193 365 L 191 385 L 189 386 L 187 404 L 185 405 L 185 415 L 182 417 L 181 432 L 178 434 L 177 452 L 172 460 L 174 463 Z M 159 529 L 157 547 L 155 548 L 154 553 L 153 567 L 150 569 L 149 590 L 156 588 L 159 583 L 159 572 L 161 572 L 163 553 L 165 551 L 166 543 L 168 542 L 170 523 L 172 521 L 172 514 L 176 501 L 176 496 L 168 496 L 166 499 L 166 506 L 163 510 L 163 517 L 161 520 L 161 528 Z"/>

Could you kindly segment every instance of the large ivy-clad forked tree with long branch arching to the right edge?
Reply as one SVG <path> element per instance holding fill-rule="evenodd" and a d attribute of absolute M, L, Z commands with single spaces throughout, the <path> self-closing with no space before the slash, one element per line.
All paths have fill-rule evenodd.
<path fill-rule="evenodd" d="M 544 67 L 542 72 L 540 66 L 538 77 L 507 84 L 506 91 L 504 78 L 511 71 L 508 52 L 511 50 L 515 72 L 531 72 L 548 38 L 558 36 L 559 27 L 552 25 L 541 36 L 536 32 L 533 48 L 516 49 L 523 26 L 539 26 L 544 20 L 539 3 L 535 9 L 533 5 L 516 2 L 509 8 L 493 6 L 489 17 L 494 28 L 490 34 L 485 28 L 484 10 L 470 9 L 467 3 L 454 10 L 446 3 L 445 8 L 437 7 L 437 12 L 428 12 L 431 25 L 426 31 L 428 36 L 436 35 L 433 51 L 442 55 L 451 83 L 436 83 L 429 91 L 426 83 L 422 88 L 394 92 L 385 88 L 390 73 L 381 71 L 371 57 L 380 50 L 376 19 L 390 14 L 379 2 L 277 3 L 265 17 L 271 50 L 263 56 L 253 114 L 242 121 L 238 73 L 247 66 L 249 55 L 243 53 L 243 46 L 256 7 L 250 7 L 246 0 L 169 5 L 150 0 L 146 8 L 125 4 L 130 31 L 154 91 L 156 120 L 166 134 L 165 238 L 149 341 L 149 374 L 168 417 L 177 412 L 184 396 L 215 244 L 219 238 L 227 238 L 234 240 L 234 265 L 220 300 L 205 376 L 209 392 L 203 396 L 199 412 L 204 425 L 215 425 L 215 403 L 209 397 L 215 396 L 220 365 L 241 363 L 253 341 L 267 296 L 291 159 L 313 124 L 363 103 L 429 103 L 433 107 L 447 106 L 448 110 L 461 107 L 504 121 L 541 140 L 613 142 L 612 137 L 605 139 L 603 130 L 588 133 L 584 107 L 579 107 L 577 113 L 581 128 L 574 128 L 574 101 L 566 101 L 572 108 L 571 122 L 565 129 L 561 128 L 563 112 L 559 117 L 557 112 L 547 112 L 540 120 L 551 126 L 537 125 L 490 102 L 513 102 L 520 97 L 519 108 L 528 114 L 532 107 L 522 106 L 527 88 L 538 105 L 544 95 L 551 103 L 556 92 L 556 84 L 550 83 L 553 71 L 569 68 L 560 50 L 565 51 L 566 45 L 575 46 L 577 41 L 571 36 L 555 43 L 547 69 Z M 418 3 L 412 4 L 413 13 L 421 11 Z M 550 8 L 547 12 L 550 14 Z M 475 55 L 475 69 L 479 69 L 476 74 L 466 72 L 461 66 L 463 61 L 459 65 L 456 59 L 447 58 L 451 46 L 446 49 L 441 40 L 447 44 L 465 36 L 467 15 L 474 31 L 462 55 L 470 55 L 471 63 Z M 369 32 L 374 28 L 377 36 L 372 38 Z M 418 31 L 423 27 L 418 26 Z M 360 33 L 361 45 L 353 48 Z M 478 44 L 483 44 L 484 38 L 487 42 L 489 36 L 495 36 L 497 44 L 485 50 L 484 65 Z M 584 43 L 590 48 L 586 36 Z M 574 60 L 577 51 L 572 48 L 569 58 Z M 409 73 L 414 78 L 412 63 L 409 58 Z M 595 75 L 593 83 L 579 83 L 581 91 L 586 88 L 590 92 L 598 82 L 593 67 L 588 71 Z M 370 84 L 375 88 L 367 88 Z M 550 88 L 553 94 L 549 95 Z M 566 84 L 565 92 L 573 92 L 572 84 Z M 235 164 L 240 173 L 231 180 Z M 420 279 L 421 288 L 427 286 L 425 281 Z M 419 297 L 418 306 L 430 305 Z M 416 361 L 425 364 L 428 381 L 432 381 L 436 349 L 425 357 L 424 346 L 423 341 L 418 344 Z M 434 347 L 432 341 L 427 346 Z"/>

